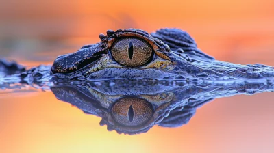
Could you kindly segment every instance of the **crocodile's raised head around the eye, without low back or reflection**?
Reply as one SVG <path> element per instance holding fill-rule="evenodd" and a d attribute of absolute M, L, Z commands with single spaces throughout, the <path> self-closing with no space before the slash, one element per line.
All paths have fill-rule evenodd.
<path fill-rule="evenodd" d="M 151 35 L 140 29 L 108 30 L 99 38 L 97 44 L 57 57 L 51 73 L 79 80 L 185 79 L 203 72 L 192 61 L 213 60 L 179 29 L 160 29 Z"/>

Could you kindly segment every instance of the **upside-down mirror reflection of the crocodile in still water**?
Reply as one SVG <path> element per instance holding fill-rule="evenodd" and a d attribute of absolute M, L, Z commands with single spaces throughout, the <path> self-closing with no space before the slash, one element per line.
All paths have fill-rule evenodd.
<path fill-rule="evenodd" d="M 103 81 L 54 85 L 56 98 L 101 117 L 117 133 L 145 133 L 154 125 L 187 124 L 196 109 L 214 98 L 273 92 L 271 82 L 188 83 L 186 81 Z"/>

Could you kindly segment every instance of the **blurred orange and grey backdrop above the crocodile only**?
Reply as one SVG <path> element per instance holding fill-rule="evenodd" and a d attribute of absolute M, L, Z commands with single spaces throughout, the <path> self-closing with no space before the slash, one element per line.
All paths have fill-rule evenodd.
<path fill-rule="evenodd" d="M 274 1 L 1 1 L 1 57 L 53 61 L 108 29 L 184 29 L 216 59 L 273 64 Z M 48 55 L 48 56 L 45 56 Z M 43 58 L 32 58 L 43 55 Z M 50 57 L 49 57 L 50 56 Z"/>

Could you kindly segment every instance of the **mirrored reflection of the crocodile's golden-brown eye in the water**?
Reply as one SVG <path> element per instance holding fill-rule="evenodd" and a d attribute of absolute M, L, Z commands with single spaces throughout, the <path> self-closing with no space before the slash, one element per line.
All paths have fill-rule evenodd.
<path fill-rule="evenodd" d="M 123 126 L 140 126 L 153 115 L 152 105 L 141 98 L 122 98 L 112 107 L 112 117 Z"/>

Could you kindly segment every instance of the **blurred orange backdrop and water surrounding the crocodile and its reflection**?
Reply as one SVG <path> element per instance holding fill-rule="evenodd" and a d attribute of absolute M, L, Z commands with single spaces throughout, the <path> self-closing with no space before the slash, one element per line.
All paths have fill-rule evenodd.
<path fill-rule="evenodd" d="M 0 57 L 27 66 L 129 27 L 184 29 L 221 61 L 274 65 L 274 1 L 3 1 Z M 216 99 L 181 128 L 118 135 L 51 92 L 0 92 L 0 152 L 273 152 L 274 94 Z"/>

